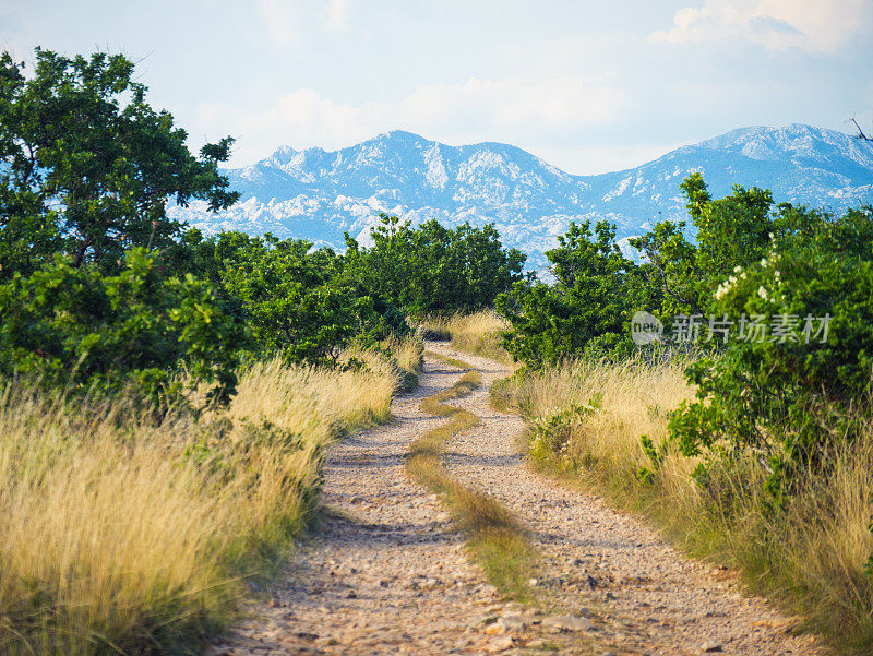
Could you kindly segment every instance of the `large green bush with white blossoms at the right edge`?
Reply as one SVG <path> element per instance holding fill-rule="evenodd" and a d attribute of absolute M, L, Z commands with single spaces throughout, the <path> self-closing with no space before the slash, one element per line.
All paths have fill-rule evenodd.
<path fill-rule="evenodd" d="M 873 371 L 873 213 L 785 207 L 781 220 L 766 255 L 738 267 L 713 301 L 716 315 L 776 327 L 696 362 L 697 401 L 670 421 L 686 455 L 761 453 L 777 496 L 817 467 L 828 442 L 853 439 L 850 410 L 869 407 Z"/>

